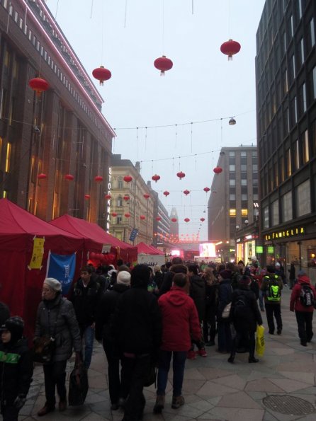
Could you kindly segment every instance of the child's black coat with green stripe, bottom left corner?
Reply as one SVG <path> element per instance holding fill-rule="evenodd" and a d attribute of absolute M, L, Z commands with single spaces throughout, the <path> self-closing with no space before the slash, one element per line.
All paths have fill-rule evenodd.
<path fill-rule="evenodd" d="M 0 396 L 1 405 L 13 405 L 18 395 L 26 396 L 33 376 L 33 360 L 28 342 L 0 342 Z"/>

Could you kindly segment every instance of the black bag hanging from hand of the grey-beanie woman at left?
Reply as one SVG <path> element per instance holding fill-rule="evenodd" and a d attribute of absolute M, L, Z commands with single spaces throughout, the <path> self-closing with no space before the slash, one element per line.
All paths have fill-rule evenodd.
<path fill-rule="evenodd" d="M 70 373 L 68 402 L 70 406 L 82 405 L 88 393 L 88 373 L 85 367 L 80 364 L 75 366 Z"/>

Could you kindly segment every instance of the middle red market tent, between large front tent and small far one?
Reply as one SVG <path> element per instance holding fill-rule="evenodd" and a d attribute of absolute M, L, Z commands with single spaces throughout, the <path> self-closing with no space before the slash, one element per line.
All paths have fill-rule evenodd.
<path fill-rule="evenodd" d="M 120 241 L 118 238 L 106 233 L 98 224 L 70 217 L 69 215 L 53 219 L 50 221 L 50 224 L 58 226 L 69 233 L 84 237 L 86 251 L 101 253 L 103 246 L 111 246 L 111 253 L 115 253 L 116 259 L 120 258 L 124 262 L 129 263 L 137 260 L 136 247 L 130 246 L 130 244 L 124 243 L 124 241 Z"/>

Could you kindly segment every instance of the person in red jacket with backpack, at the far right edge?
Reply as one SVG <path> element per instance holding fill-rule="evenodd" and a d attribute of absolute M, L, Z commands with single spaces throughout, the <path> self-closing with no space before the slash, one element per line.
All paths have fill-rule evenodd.
<path fill-rule="evenodd" d="M 295 311 L 300 345 L 303 347 L 312 340 L 312 314 L 315 299 L 316 291 L 310 283 L 310 278 L 303 270 L 299 270 L 298 282 L 294 285 L 290 296 L 290 311 Z"/>

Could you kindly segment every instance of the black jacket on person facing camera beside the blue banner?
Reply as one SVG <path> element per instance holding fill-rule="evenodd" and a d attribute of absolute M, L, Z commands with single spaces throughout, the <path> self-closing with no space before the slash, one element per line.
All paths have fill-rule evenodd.
<path fill-rule="evenodd" d="M 69 301 L 74 305 L 77 321 L 81 328 L 91 325 L 96 321 L 96 308 L 101 299 L 101 288 L 95 279 L 90 279 L 84 287 L 82 279 L 74 284 Z"/>

